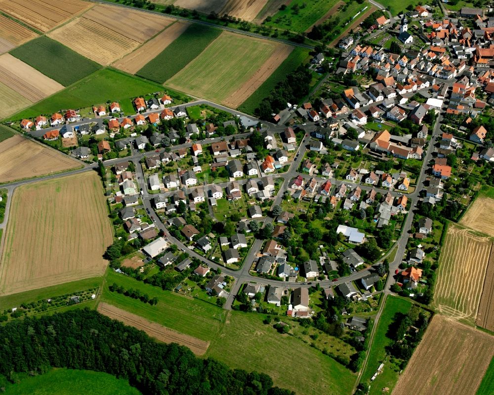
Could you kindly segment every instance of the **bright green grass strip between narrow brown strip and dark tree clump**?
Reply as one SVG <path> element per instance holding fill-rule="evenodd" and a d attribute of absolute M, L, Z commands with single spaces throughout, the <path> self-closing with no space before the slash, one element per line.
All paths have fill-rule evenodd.
<path fill-rule="evenodd" d="M 262 85 L 244 101 L 239 110 L 247 114 L 253 114 L 261 101 L 266 98 L 289 73 L 296 70 L 309 56 L 309 50 L 296 47 L 291 51 L 283 63 L 271 74 Z"/>

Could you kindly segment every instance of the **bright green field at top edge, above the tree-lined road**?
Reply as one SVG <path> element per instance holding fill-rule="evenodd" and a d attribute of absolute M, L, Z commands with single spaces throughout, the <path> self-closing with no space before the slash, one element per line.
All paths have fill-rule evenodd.
<path fill-rule="evenodd" d="M 278 10 L 266 25 L 303 33 L 316 23 L 338 0 L 292 0 Z"/>

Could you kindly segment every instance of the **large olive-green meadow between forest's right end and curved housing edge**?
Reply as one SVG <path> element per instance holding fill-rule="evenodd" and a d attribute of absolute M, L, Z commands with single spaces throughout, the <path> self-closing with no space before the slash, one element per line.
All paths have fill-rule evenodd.
<path fill-rule="evenodd" d="M 206 357 L 269 374 L 275 385 L 297 394 L 351 394 L 356 376 L 350 370 L 294 336 L 278 333 L 275 321 L 263 324 L 264 317 L 232 311 Z"/>

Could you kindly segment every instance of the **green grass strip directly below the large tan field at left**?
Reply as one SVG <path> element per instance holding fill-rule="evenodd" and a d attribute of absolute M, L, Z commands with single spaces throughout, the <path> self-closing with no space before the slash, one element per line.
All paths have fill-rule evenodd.
<path fill-rule="evenodd" d="M 71 294 L 90 288 L 97 288 L 101 286 L 102 282 L 103 277 L 92 277 L 60 285 L 53 285 L 51 287 L 34 289 L 32 291 L 20 292 L 18 294 L 2 296 L 0 297 L 0 310 L 17 307 L 22 303 L 38 302 L 42 299 L 48 299 L 54 296 Z"/>

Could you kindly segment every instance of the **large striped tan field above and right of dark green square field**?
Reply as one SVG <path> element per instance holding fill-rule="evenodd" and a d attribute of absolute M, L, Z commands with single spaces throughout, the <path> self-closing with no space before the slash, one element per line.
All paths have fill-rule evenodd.
<path fill-rule="evenodd" d="M 132 21 L 132 23 L 129 23 Z M 112 5 L 96 5 L 48 34 L 102 65 L 120 59 L 170 25 L 174 19 Z"/>

